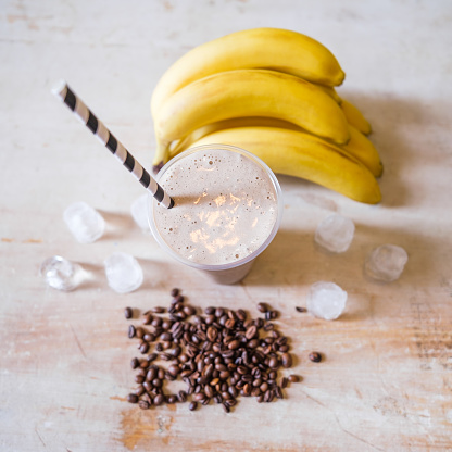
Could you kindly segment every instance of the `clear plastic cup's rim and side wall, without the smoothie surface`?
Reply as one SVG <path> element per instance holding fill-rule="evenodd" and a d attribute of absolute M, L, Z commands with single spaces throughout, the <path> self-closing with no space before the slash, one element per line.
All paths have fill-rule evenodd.
<path fill-rule="evenodd" d="M 243 259 L 237 260 L 235 262 L 225 263 L 225 264 L 201 264 L 201 263 L 189 261 L 186 258 L 181 256 L 173 248 L 171 248 L 166 243 L 166 241 L 163 239 L 159 229 L 156 228 L 155 221 L 154 221 L 154 215 L 158 214 L 158 209 L 162 209 L 162 206 L 158 205 L 158 203 L 154 202 L 152 197 L 150 197 L 148 201 L 149 225 L 150 225 L 152 235 L 154 236 L 160 247 L 163 250 L 165 250 L 170 255 L 172 255 L 176 261 L 180 262 L 181 264 L 188 265 L 192 268 L 197 268 L 198 271 L 208 275 L 215 282 L 230 285 L 230 284 L 240 281 L 247 276 L 247 274 L 250 272 L 258 255 L 261 254 L 268 247 L 268 244 L 272 242 L 272 240 L 276 236 L 276 233 L 279 229 L 279 225 L 280 225 L 281 216 L 282 216 L 282 192 L 281 192 L 281 188 L 279 186 L 279 183 L 276 176 L 273 174 L 272 170 L 261 159 L 259 159 L 251 152 L 248 152 L 243 149 L 240 149 L 234 146 L 227 146 L 227 145 L 205 145 L 205 146 L 199 146 L 196 148 L 188 149 L 187 151 L 181 152 L 180 154 L 172 159 L 168 163 L 166 163 L 166 165 L 163 166 L 162 170 L 156 175 L 155 180 L 159 181 L 162 175 L 165 174 L 166 171 L 168 171 L 174 164 L 179 162 L 181 159 L 185 159 L 187 155 L 190 155 L 194 152 L 205 152 L 209 150 L 224 150 L 228 152 L 240 153 L 241 155 L 246 156 L 247 159 L 250 159 L 252 162 L 254 162 L 256 165 L 259 165 L 261 168 L 264 170 L 265 174 L 268 177 L 268 181 L 271 183 L 271 185 L 273 186 L 275 190 L 276 209 L 277 209 L 276 221 L 274 223 L 273 229 L 271 234 L 268 235 L 268 237 L 254 252 L 252 252 L 251 254 L 247 255 Z M 176 205 L 174 206 L 174 209 L 177 209 L 177 200 L 176 200 Z"/>

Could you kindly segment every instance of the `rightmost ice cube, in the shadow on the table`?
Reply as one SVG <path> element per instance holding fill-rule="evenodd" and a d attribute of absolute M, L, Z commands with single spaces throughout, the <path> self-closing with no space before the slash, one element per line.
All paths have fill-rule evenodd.
<path fill-rule="evenodd" d="M 374 279 L 391 282 L 400 278 L 407 260 L 409 255 L 403 248 L 382 244 L 367 255 L 364 269 Z"/>

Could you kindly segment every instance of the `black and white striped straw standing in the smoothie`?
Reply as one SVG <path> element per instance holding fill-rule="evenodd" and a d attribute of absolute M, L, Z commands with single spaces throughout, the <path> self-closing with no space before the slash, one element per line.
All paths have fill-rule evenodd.
<path fill-rule="evenodd" d="M 111 153 L 140 181 L 140 184 L 165 208 L 172 209 L 174 200 L 154 178 L 140 165 L 114 135 L 85 105 L 75 92 L 61 80 L 52 92 L 59 97 L 72 112 L 96 135 L 96 137 L 111 151 Z"/>

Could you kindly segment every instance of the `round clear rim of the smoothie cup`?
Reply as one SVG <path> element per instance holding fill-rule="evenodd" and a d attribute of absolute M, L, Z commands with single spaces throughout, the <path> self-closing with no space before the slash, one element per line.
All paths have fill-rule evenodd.
<path fill-rule="evenodd" d="M 153 216 L 153 211 L 154 209 L 165 209 L 161 205 L 159 205 L 158 202 L 155 202 L 155 199 L 153 198 L 153 196 L 151 193 L 149 193 L 149 198 L 148 198 L 148 224 L 149 227 L 151 229 L 152 236 L 154 237 L 154 239 L 156 240 L 156 242 L 159 243 L 160 247 L 162 247 L 170 255 L 172 255 L 174 259 L 176 259 L 177 261 L 193 267 L 193 268 L 198 268 L 198 269 L 202 269 L 202 271 L 208 271 L 208 272 L 216 272 L 216 271 L 225 271 L 225 269 L 230 269 L 230 268 L 236 268 L 238 266 L 244 265 L 247 263 L 249 263 L 250 261 L 253 261 L 255 258 L 258 258 L 267 247 L 268 244 L 273 241 L 273 239 L 275 238 L 280 223 L 281 223 L 281 218 L 282 218 L 282 211 L 284 211 L 284 202 L 282 202 L 282 190 L 281 187 L 279 185 L 278 179 L 276 178 L 275 174 L 273 173 L 273 171 L 269 168 L 269 166 L 263 162 L 259 156 L 254 155 L 252 152 L 247 151 L 242 148 L 239 148 L 237 146 L 231 146 L 231 145 L 201 145 L 201 146 L 196 146 L 193 148 L 189 148 L 187 150 L 185 150 L 184 152 L 180 152 L 179 154 L 177 154 L 176 156 L 174 156 L 172 160 L 170 160 L 156 174 L 155 176 L 155 181 L 159 181 L 160 178 L 162 177 L 162 175 L 171 167 L 173 166 L 175 163 L 177 163 L 179 160 L 184 159 L 185 156 L 196 153 L 196 152 L 200 152 L 200 151 L 205 151 L 205 150 L 213 150 L 213 149 L 219 149 L 219 150 L 226 150 L 226 151 L 231 151 L 231 152 L 236 152 L 236 153 L 240 153 L 241 155 L 247 156 L 248 159 L 254 161 L 254 163 L 256 163 L 258 165 L 260 165 L 263 170 L 265 170 L 266 174 L 268 175 L 273 187 L 275 189 L 276 192 L 276 205 L 277 205 L 277 216 L 275 219 L 275 223 L 273 225 L 272 231 L 268 235 L 268 237 L 264 240 L 264 242 L 251 254 L 247 255 L 243 259 L 240 259 L 238 261 L 234 261 L 230 263 L 226 263 L 226 264 L 200 264 L 198 262 L 192 262 L 189 261 L 188 259 L 185 259 L 184 256 L 179 255 L 178 253 L 176 253 L 176 251 L 173 250 L 173 248 L 171 248 L 166 241 L 162 238 L 162 236 L 160 235 L 160 233 L 158 231 L 158 228 L 155 226 L 155 222 L 153 221 L 154 216 Z"/>

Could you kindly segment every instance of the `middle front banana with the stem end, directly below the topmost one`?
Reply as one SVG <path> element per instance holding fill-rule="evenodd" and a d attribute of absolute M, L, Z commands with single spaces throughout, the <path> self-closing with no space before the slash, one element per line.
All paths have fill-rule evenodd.
<path fill-rule="evenodd" d="M 227 71 L 193 81 L 166 100 L 155 118 L 154 165 L 167 161 L 172 141 L 205 124 L 243 116 L 289 121 L 340 145 L 350 139 L 341 108 L 309 81 L 276 71 Z"/>

